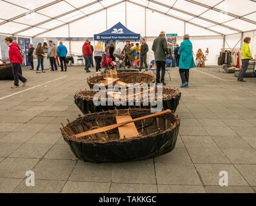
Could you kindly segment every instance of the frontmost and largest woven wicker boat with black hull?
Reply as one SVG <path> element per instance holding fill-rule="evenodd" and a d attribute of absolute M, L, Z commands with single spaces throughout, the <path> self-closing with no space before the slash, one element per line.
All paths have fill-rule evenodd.
<path fill-rule="evenodd" d="M 165 111 L 163 111 L 165 112 Z M 138 135 L 121 136 L 125 127 L 83 137 L 77 134 L 112 126 L 118 119 L 152 116 L 151 109 L 116 109 L 90 113 L 61 127 L 64 140 L 77 158 L 89 162 L 130 162 L 170 153 L 176 144 L 180 120 L 172 112 L 134 122 Z M 125 124 L 128 126 L 128 124 Z M 133 128 L 133 129 L 134 129 Z M 128 129 L 132 133 L 132 129 Z"/>

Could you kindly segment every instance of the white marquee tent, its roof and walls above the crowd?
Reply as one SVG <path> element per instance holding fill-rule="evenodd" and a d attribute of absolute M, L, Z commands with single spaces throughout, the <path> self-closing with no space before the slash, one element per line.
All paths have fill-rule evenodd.
<path fill-rule="evenodd" d="M 0 6 L 2 36 L 93 37 L 121 22 L 149 46 L 162 30 L 177 33 L 179 42 L 189 33 L 194 52 L 209 48 L 208 64 L 217 64 L 221 48 L 241 47 L 245 36 L 256 53 L 255 0 L 0 0 Z M 64 44 L 81 53 L 83 42 Z"/>

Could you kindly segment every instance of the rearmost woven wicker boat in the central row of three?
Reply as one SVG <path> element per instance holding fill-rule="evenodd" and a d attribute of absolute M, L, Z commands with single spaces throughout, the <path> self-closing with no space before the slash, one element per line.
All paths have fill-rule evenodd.
<path fill-rule="evenodd" d="M 105 74 L 89 77 L 87 78 L 88 85 L 90 86 L 90 88 L 94 88 L 94 85 L 104 81 L 105 77 Z M 118 78 L 121 82 L 124 82 L 126 84 L 144 82 L 149 85 L 150 83 L 155 82 L 155 77 L 153 77 L 150 72 L 121 72 L 118 73 Z"/>

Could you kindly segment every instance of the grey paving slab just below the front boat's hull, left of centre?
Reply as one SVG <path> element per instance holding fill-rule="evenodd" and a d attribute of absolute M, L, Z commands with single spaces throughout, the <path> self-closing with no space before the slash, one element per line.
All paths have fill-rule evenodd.
<path fill-rule="evenodd" d="M 113 164 L 78 161 L 68 180 L 81 182 L 111 182 Z"/>

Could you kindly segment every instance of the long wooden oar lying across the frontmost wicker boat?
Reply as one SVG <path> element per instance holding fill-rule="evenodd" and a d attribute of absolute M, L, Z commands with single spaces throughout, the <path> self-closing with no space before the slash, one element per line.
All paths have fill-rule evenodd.
<path fill-rule="evenodd" d="M 111 129 L 115 129 L 117 127 L 124 126 L 125 124 L 130 124 L 132 122 L 137 122 L 137 121 L 140 121 L 140 120 L 144 120 L 146 118 L 159 117 L 159 116 L 164 115 L 166 113 L 172 113 L 172 111 L 170 109 L 167 109 L 166 111 L 161 111 L 159 113 L 155 113 L 155 114 L 152 114 L 152 115 L 147 115 L 147 116 L 144 116 L 144 117 L 135 118 L 133 120 L 128 120 L 126 122 L 121 122 L 119 124 L 112 124 L 110 126 L 101 127 L 101 128 L 93 129 L 93 130 L 90 130 L 90 131 L 85 131 L 84 133 L 79 133 L 79 134 L 75 135 L 75 137 L 79 138 L 79 137 L 82 137 L 82 136 L 88 136 L 88 135 L 94 135 L 94 134 L 97 134 L 97 133 L 102 133 L 104 131 L 109 131 Z"/>

